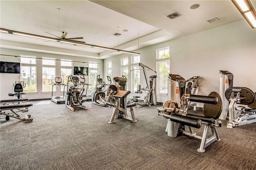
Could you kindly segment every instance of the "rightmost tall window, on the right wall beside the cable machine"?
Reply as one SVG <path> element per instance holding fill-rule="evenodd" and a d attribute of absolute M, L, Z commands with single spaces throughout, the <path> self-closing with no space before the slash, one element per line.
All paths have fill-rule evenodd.
<path fill-rule="evenodd" d="M 157 85 L 158 93 L 167 93 L 168 73 L 170 73 L 170 48 L 157 49 Z"/>

